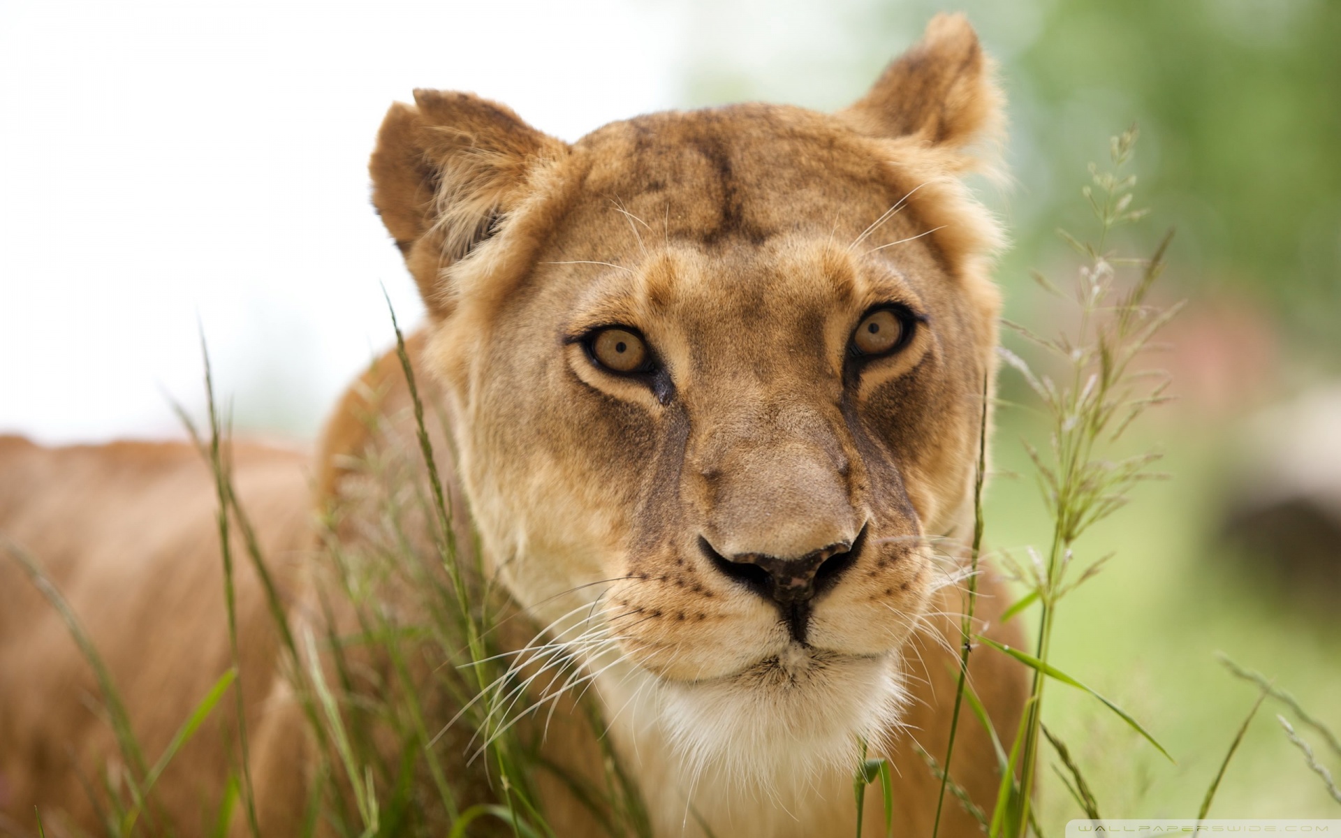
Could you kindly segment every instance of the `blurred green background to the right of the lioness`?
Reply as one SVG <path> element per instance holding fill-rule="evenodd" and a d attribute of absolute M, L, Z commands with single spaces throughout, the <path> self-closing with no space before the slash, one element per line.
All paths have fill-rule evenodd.
<path fill-rule="evenodd" d="M 1080 194 L 1086 165 L 1106 165 L 1108 138 L 1139 123 L 1136 205 L 1152 212 L 1122 244 L 1147 255 L 1175 227 L 1157 294 L 1188 306 L 1152 361 L 1173 374 L 1179 400 L 1144 417 L 1125 449 L 1163 451 L 1171 479 L 1139 487 L 1130 507 L 1082 539 L 1080 560 L 1118 552 L 1063 602 L 1054 662 L 1143 720 L 1177 764 L 1066 686 L 1050 688 L 1045 721 L 1070 743 L 1105 817 L 1196 815 L 1257 697 L 1216 661 L 1218 650 L 1341 729 L 1341 590 L 1324 583 L 1341 546 L 1322 546 L 1320 560 L 1333 568 L 1324 582 L 1301 581 L 1273 568 L 1278 556 L 1246 551 L 1223 532 L 1235 499 L 1279 460 L 1263 438 L 1294 433 L 1279 412 L 1263 412 L 1325 392 L 1341 366 L 1341 3 L 700 0 L 695 8 L 685 105 L 819 109 L 861 95 L 933 12 L 964 11 L 999 60 L 1008 99 L 1015 182 L 979 184 L 1012 240 L 998 280 L 1007 316 L 1046 334 L 1067 320 L 1029 271 L 1070 284 L 1077 261 L 1054 228 L 1094 228 Z M 1012 335 L 1004 341 L 1026 351 Z M 1002 394 L 1031 400 L 1011 370 Z M 1341 437 L 1341 412 L 1332 416 L 1332 436 Z M 1313 417 L 1324 429 L 1328 421 Z M 1003 409 L 987 539 L 1023 558 L 1025 546 L 1046 550 L 1051 530 L 1022 438 L 1046 446 L 1029 412 Z M 1341 475 L 1341 459 L 1333 471 Z M 1018 619 L 1033 629 L 1037 611 Z M 1278 712 L 1299 727 L 1285 707 L 1263 705 L 1211 817 L 1341 817 Z M 1338 772 L 1341 758 L 1318 735 L 1305 737 Z M 1058 834 L 1081 811 L 1051 762 L 1042 826 Z"/>

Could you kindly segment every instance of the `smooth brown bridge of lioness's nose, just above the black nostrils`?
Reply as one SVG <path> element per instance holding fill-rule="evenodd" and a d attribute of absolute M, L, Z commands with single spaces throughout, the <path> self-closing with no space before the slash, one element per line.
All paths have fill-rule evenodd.
<path fill-rule="evenodd" d="M 856 538 L 846 456 L 822 412 L 738 404 L 701 442 L 703 512 L 721 554 L 799 558 Z"/>

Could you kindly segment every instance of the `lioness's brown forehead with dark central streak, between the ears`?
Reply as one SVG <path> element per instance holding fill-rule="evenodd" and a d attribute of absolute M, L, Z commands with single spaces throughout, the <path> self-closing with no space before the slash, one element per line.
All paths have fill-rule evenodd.
<path fill-rule="evenodd" d="M 878 149 L 817 114 L 776 106 L 649 114 L 599 129 L 578 149 L 593 161 L 583 223 L 609 224 L 595 219 L 616 200 L 648 225 L 649 241 L 719 252 L 802 228 L 846 244 L 858 232 L 848 228 L 865 227 L 907 192 Z"/>

